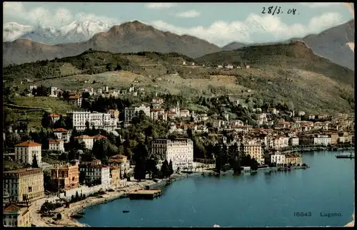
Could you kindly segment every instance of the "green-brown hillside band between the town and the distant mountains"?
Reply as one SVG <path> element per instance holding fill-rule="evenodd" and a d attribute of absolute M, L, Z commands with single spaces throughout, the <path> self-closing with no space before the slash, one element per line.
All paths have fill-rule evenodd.
<path fill-rule="evenodd" d="M 191 66 L 191 62 L 196 65 Z M 223 63 L 250 68 L 207 67 Z M 178 53 L 86 51 L 74 57 L 8 66 L 3 74 L 9 84 L 30 78 L 34 83 L 27 85 L 64 89 L 136 85 L 146 91 L 188 97 L 231 94 L 243 99 L 250 96 L 292 102 L 295 110 L 307 113 L 354 109 L 354 71 L 316 56 L 300 41 L 249 46 L 196 59 Z"/>

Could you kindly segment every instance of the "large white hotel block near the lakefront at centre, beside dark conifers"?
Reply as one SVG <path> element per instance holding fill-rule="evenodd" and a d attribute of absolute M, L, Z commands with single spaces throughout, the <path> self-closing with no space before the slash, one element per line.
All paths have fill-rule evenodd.
<path fill-rule="evenodd" d="M 164 160 L 172 161 L 172 168 L 193 168 L 193 142 L 191 139 L 177 138 L 176 140 L 157 139 L 151 143 L 151 153 L 159 155 L 158 166 L 161 167 Z"/>

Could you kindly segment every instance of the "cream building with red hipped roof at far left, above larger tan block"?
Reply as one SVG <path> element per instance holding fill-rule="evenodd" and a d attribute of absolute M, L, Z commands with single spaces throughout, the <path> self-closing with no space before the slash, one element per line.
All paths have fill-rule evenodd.
<path fill-rule="evenodd" d="M 15 145 L 15 160 L 24 164 L 31 164 L 36 155 L 37 164 L 41 167 L 41 144 L 31 141 Z"/>

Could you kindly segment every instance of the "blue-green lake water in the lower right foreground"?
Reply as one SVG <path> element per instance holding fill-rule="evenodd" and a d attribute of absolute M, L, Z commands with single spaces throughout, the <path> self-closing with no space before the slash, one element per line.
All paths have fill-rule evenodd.
<path fill-rule="evenodd" d="M 89 226 L 343 226 L 354 210 L 355 163 L 336 159 L 338 153 L 303 153 L 310 168 L 291 172 L 182 179 L 158 199 L 117 199 L 85 209 L 79 221 Z M 311 216 L 294 216 L 301 211 Z M 328 213 L 341 216 L 321 216 Z"/>

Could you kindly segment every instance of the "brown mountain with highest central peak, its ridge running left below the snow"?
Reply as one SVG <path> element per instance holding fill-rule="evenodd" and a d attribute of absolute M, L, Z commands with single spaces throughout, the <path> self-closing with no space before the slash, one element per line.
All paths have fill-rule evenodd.
<path fill-rule="evenodd" d="M 33 47 L 34 52 L 28 53 L 31 49 L 29 47 L 20 48 L 16 46 L 16 41 L 4 42 L 4 65 L 75 56 L 90 48 L 113 53 L 176 52 L 193 58 L 220 51 L 218 46 L 203 39 L 160 31 L 154 26 L 146 25 L 140 21 L 131 21 L 122 23 L 119 26 L 112 26 L 109 31 L 96 33 L 91 39 L 84 42 L 61 43 L 52 47 L 51 45 L 43 44 L 41 45 L 42 49 L 47 51 L 43 56 L 37 55 L 39 51 L 35 51 L 34 47 L 39 46 L 35 45 L 35 43 L 34 41 L 26 43 Z M 51 50 L 56 50 L 56 52 L 51 53 Z"/>

